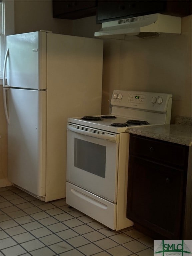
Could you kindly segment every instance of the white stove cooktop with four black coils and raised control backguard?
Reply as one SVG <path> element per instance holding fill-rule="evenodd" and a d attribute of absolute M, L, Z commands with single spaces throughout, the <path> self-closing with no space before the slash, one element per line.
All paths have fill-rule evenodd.
<path fill-rule="evenodd" d="M 111 114 L 68 118 L 68 122 L 114 133 L 134 126 L 170 123 L 171 94 L 114 90 L 110 103 Z"/>

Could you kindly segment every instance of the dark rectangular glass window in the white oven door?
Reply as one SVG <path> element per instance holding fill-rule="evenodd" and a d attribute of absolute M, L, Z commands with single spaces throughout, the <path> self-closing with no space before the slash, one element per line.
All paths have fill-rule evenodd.
<path fill-rule="evenodd" d="M 74 166 L 105 178 L 106 147 L 75 138 Z"/>

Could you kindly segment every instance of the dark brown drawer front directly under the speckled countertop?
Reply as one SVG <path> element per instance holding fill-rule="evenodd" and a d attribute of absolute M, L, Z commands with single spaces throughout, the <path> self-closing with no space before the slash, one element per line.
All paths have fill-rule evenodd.
<path fill-rule="evenodd" d="M 184 166 L 187 150 L 183 145 L 130 134 L 130 154 L 140 157 Z"/>

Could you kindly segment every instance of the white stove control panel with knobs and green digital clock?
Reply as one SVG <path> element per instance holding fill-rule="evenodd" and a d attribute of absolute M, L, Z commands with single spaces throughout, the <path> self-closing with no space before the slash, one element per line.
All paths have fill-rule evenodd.
<path fill-rule="evenodd" d="M 111 105 L 140 110 L 166 112 L 172 94 L 114 90 Z"/>

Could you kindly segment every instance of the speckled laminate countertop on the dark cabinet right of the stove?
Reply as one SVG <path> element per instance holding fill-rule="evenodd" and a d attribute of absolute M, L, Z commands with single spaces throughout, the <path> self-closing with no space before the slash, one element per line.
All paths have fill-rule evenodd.
<path fill-rule="evenodd" d="M 186 146 L 191 146 L 191 125 L 171 124 L 128 128 L 128 133 L 133 133 L 149 138 L 164 140 Z"/>

